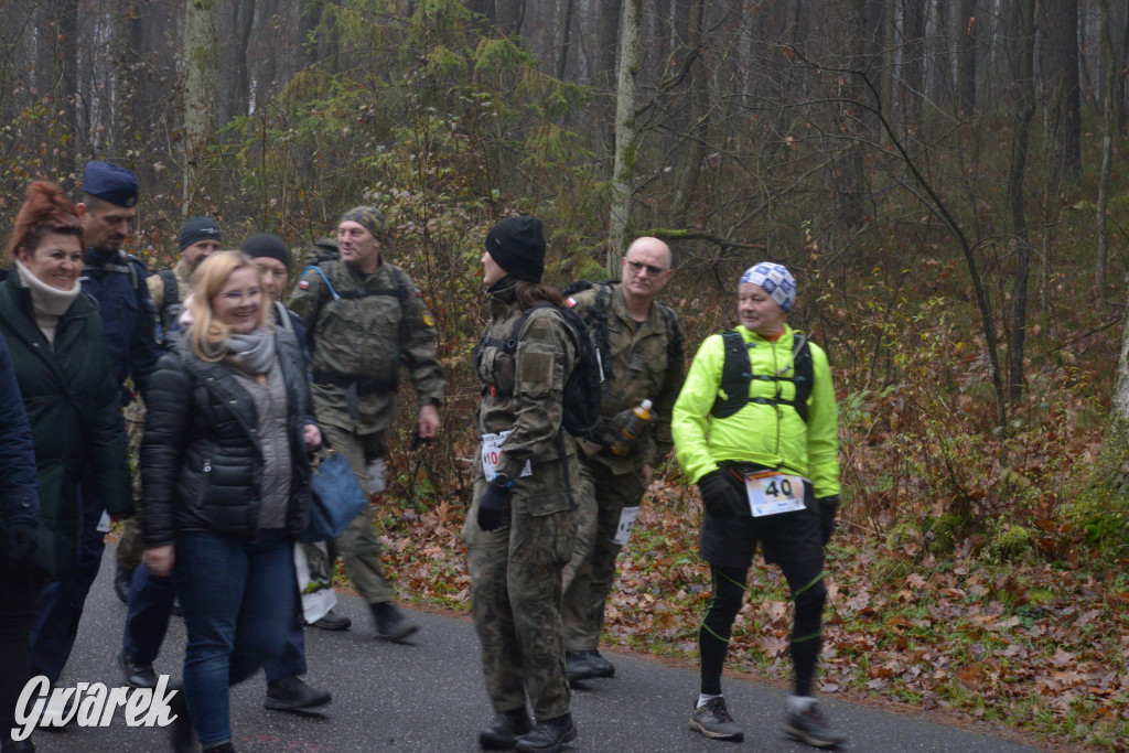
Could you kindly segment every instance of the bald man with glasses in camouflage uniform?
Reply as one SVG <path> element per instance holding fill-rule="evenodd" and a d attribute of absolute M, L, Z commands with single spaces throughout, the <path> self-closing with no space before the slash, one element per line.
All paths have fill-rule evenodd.
<path fill-rule="evenodd" d="M 605 370 L 601 436 L 580 441 L 577 541 L 564 571 L 564 645 L 574 682 L 615 673 L 598 650 L 615 558 L 631 535 L 654 467 L 671 452 L 671 409 L 684 377 L 684 338 L 674 312 L 655 300 L 671 279 L 671 261 L 665 243 L 639 238 L 623 256 L 619 284 L 596 284 L 568 301 L 603 341 Z M 611 443 L 644 400 L 653 403 L 647 431 L 625 455 L 614 454 Z"/>

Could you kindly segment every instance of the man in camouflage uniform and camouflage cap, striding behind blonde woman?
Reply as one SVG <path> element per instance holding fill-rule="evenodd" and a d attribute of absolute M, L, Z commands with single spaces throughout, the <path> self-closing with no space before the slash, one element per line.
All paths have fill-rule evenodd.
<path fill-rule="evenodd" d="M 401 366 L 419 399 L 422 439 L 439 431 L 444 388 L 435 319 L 408 273 L 383 259 L 384 230 L 373 207 L 345 212 L 338 225 L 341 259 L 307 268 L 287 305 L 306 330 L 317 421 L 369 493 L 385 488 L 384 434 L 400 410 Z M 368 510 L 332 542 L 331 555 L 338 554 L 373 610 L 377 636 L 403 640 L 415 632 L 392 603 Z"/>

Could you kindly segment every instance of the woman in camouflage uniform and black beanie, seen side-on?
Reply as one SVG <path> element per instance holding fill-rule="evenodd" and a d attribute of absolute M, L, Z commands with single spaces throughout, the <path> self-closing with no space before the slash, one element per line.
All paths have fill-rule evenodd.
<path fill-rule="evenodd" d="M 482 452 L 463 528 L 495 710 L 479 744 L 552 752 L 576 738 L 560 605 L 561 569 L 572 551 L 568 490 L 579 483 L 579 466 L 576 445 L 561 428 L 561 395 L 578 343 L 557 308 L 560 292 L 541 282 L 541 222 L 502 220 L 485 246 L 491 318 L 474 356 L 483 384 L 475 414 Z M 544 303 L 555 306 L 539 305 Z"/>

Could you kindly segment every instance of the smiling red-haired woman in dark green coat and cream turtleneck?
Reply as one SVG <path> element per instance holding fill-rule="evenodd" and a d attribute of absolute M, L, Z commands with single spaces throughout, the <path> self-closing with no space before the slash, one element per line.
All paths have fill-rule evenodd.
<path fill-rule="evenodd" d="M 61 579 L 75 567 L 84 473 L 97 478 L 111 515 L 128 514 L 132 505 L 121 395 L 97 305 L 79 284 L 82 249 L 82 224 L 62 189 L 29 185 L 7 246 L 15 269 L 0 282 L 0 334 L 32 423 L 43 580 Z"/>

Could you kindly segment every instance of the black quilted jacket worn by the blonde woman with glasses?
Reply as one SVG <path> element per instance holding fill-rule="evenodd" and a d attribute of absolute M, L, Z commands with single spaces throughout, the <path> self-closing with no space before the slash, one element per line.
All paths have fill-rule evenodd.
<path fill-rule="evenodd" d="M 309 523 L 309 462 L 303 428 L 314 424 L 309 383 L 294 333 L 274 332 L 287 392 L 294 476 L 287 531 Z M 141 444 L 147 548 L 175 544 L 181 533 L 209 532 L 254 540 L 262 507 L 263 453 L 254 399 L 233 367 L 201 360 L 174 339 L 149 382 Z"/>

